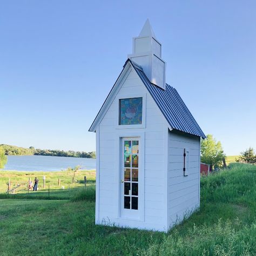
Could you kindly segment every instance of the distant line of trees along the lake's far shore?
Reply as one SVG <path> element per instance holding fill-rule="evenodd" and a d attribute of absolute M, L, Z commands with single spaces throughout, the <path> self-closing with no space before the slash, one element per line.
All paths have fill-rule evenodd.
<path fill-rule="evenodd" d="M 6 156 L 55 156 L 55 157 L 82 157 L 82 158 L 96 158 L 96 152 L 85 151 L 64 151 L 64 150 L 42 150 L 35 149 L 30 146 L 29 149 L 25 147 L 17 147 L 11 145 L 0 144 L 0 147 Z"/>

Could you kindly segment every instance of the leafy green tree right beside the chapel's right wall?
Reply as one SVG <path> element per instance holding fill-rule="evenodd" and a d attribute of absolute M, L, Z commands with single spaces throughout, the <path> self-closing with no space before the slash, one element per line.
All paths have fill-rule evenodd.
<path fill-rule="evenodd" d="M 201 140 L 201 162 L 208 164 L 214 169 L 220 167 L 225 158 L 224 150 L 220 142 L 207 134 L 207 138 Z"/>

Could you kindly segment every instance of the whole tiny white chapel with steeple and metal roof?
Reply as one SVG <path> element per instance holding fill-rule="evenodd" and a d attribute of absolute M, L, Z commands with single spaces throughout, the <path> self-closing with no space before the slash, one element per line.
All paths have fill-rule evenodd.
<path fill-rule="evenodd" d="M 200 204 L 200 138 L 147 20 L 90 130 L 96 224 L 167 232 Z"/>

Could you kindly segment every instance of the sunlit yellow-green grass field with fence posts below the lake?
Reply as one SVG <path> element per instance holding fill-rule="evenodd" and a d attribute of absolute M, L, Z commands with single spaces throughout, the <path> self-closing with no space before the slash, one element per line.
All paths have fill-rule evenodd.
<path fill-rule="evenodd" d="M 87 179 L 87 186 L 95 185 L 95 171 L 79 170 L 75 173 L 71 170 L 55 172 L 0 171 L 0 198 L 69 199 L 79 187 L 84 186 L 84 176 Z M 29 178 L 33 183 L 35 177 L 39 179 L 38 192 L 28 191 Z M 46 178 L 45 188 L 43 188 L 43 177 Z M 20 185 L 16 188 L 16 194 L 5 193 L 8 189 L 9 179 L 11 188 L 17 187 L 17 184 Z"/>

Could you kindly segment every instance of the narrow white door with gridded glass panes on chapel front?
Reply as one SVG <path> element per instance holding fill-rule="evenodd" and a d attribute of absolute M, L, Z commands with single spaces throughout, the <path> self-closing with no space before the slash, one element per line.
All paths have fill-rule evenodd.
<path fill-rule="evenodd" d="M 122 138 L 120 217 L 139 217 L 139 138 Z"/>

